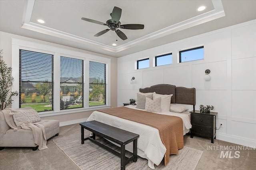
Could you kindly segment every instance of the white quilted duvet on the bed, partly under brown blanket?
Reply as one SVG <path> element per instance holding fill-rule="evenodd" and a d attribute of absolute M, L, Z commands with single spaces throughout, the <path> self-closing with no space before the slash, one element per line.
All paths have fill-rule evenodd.
<path fill-rule="evenodd" d="M 125 107 L 136 109 L 136 106 L 133 105 L 128 105 Z M 170 111 L 162 112 L 159 114 L 180 117 L 183 121 L 184 135 L 188 133 L 189 129 L 192 127 L 188 114 L 175 113 Z M 148 166 L 150 168 L 154 169 L 154 164 L 159 165 L 164 158 L 166 148 L 164 147 L 164 144 L 160 139 L 158 129 L 144 124 L 122 119 L 120 117 L 102 113 L 100 111 L 94 111 L 87 119 L 87 121 L 92 120 L 96 120 L 107 125 L 118 127 L 120 129 L 140 135 L 140 137 L 138 138 L 138 156 L 146 158 L 148 160 Z M 126 145 L 126 150 L 132 152 L 132 143 Z"/>

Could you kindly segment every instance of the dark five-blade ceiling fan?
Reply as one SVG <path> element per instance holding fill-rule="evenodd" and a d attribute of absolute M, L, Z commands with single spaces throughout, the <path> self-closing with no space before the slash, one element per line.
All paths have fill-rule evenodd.
<path fill-rule="evenodd" d="M 124 24 L 124 25 L 121 25 L 121 23 L 119 21 L 120 18 L 121 18 L 121 14 L 122 14 L 122 9 L 115 6 L 112 13 L 110 14 L 111 19 L 106 21 L 106 23 L 91 20 L 91 19 L 88 19 L 88 18 L 81 18 L 81 19 L 84 20 L 84 21 L 89 21 L 89 22 L 92 22 L 92 23 L 100 24 L 100 25 L 106 25 L 106 26 L 109 27 L 109 29 L 105 29 L 103 31 L 100 31 L 99 33 L 96 33 L 94 35 L 94 37 L 98 37 L 98 36 L 108 32 L 111 29 L 112 31 L 116 31 L 116 34 L 122 40 L 126 40 L 127 39 L 126 35 L 122 31 L 120 31 L 118 28 L 122 28 L 122 29 L 144 29 L 143 24 Z"/>

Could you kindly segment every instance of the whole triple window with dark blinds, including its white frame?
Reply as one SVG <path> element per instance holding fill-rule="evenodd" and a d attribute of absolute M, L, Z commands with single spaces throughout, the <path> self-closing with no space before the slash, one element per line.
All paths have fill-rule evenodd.
<path fill-rule="evenodd" d="M 109 58 L 12 39 L 12 106 L 40 117 L 110 108 L 110 67 Z"/>

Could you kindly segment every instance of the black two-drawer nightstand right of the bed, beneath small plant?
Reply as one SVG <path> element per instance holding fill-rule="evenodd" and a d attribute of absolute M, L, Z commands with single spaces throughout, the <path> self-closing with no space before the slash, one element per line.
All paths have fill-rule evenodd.
<path fill-rule="evenodd" d="M 216 139 L 216 115 L 217 112 L 200 113 L 199 110 L 190 111 L 191 113 L 191 134 L 190 137 L 199 136 L 211 138 L 211 142 L 214 143 Z"/>

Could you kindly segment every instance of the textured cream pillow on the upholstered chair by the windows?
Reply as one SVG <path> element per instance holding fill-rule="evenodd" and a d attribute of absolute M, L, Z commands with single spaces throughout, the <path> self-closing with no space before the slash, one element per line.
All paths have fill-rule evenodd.
<path fill-rule="evenodd" d="M 35 109 L 20 109 L 9 114 L 13 116 L 13 120 L 17 127 L 24 123 L 35 123 L 41 121 L 40 116 Z"/>

